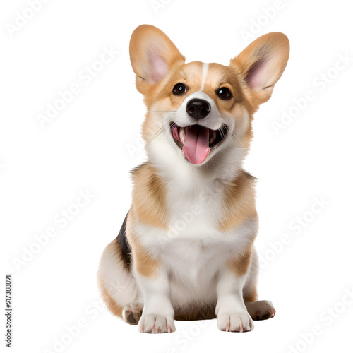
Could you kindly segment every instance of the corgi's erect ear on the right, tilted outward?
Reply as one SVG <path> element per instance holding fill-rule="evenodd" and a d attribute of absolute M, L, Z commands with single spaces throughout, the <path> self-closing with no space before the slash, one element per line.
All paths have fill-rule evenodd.
<path fill-rule="evenodd" d="M 289 57 L 289 40 L 280 32 L 258 37 L 230 61 L 237 66 L 243 82 L 258 104 L 270 99 L 273 87 L 282 76 Z"/>

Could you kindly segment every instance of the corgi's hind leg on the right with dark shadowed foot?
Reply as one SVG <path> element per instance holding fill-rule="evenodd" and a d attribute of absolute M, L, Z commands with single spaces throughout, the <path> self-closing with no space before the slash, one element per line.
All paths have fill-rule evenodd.
<path fill-rule="evenodd" d="M 273 304 L 269 300 L 258 300 L 258 292 L 256 289 L 258 268 L 258 255 L 253 248 L 250 272 L 243 289 L 243 297 L 249 315 L 256 321 L 273 318 L 276 313 Z"/>

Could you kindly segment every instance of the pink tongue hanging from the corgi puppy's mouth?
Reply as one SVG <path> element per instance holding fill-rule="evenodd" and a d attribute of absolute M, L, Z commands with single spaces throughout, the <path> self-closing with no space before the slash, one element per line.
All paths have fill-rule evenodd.
<path fill-rule="evenodd" d="M 192 164 L 201 164 L 210 153 L 208 147 L 208 128 L 198 125 L 188 126 L 186 128 L 185 143 L 183 152 L 185 157 Z"/>

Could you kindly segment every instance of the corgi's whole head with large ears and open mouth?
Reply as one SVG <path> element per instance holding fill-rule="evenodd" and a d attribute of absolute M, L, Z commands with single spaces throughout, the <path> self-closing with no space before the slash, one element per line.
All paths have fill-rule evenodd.
<path fill-rule="evenodd" d="M 221 151 L 249 147 L 253 113 L 282 76 L 289 42 L 273 32 L 251 43 L 229 66 L 185 64 L 167 35 L 141 25 L 131 37 L 130 56 L 136 87 L 148 107 L 145 142 L 160 136 L 164 149 L 174 151 L 170 157 L 203 165 Z"/>

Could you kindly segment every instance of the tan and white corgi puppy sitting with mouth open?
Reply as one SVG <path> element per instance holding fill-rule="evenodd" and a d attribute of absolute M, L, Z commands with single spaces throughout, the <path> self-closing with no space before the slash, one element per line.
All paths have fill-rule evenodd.
<path fill-rule="evenodd" d="M 134 30 L 148 160 L 132 172 L 131 208 L 102 254 L 98 282 L 109 311 L 138 331 L 170 333 L 174 320 L 217 318 L 220 330 L 246 332 L 275 316 L 270 301 L 258 301 L 255 179 L 242 162 L 253 114 L 288 57 L 287 37 L 271 32 L 229 66 L 186 64 L 158 28 Z"/>

